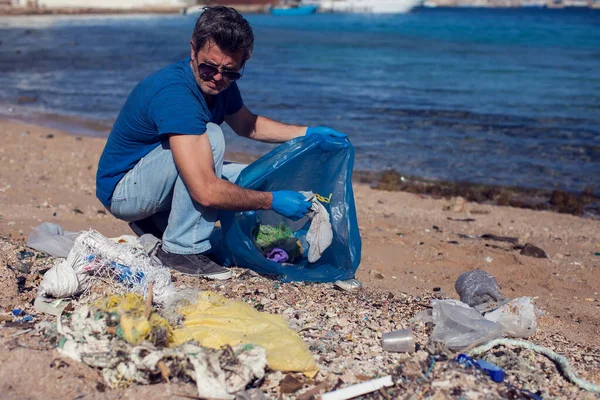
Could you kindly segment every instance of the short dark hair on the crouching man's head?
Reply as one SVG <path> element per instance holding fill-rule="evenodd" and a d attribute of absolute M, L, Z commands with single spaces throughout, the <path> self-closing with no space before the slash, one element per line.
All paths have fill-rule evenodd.
<path fill-rule="evenodd" d="M 194 51 L 213 41 L 227 54 L 242 53 L 243 62 L 252 55 L 254 33 L 250 24 L 231 7 L 204 7 L 192 35 Z"/>

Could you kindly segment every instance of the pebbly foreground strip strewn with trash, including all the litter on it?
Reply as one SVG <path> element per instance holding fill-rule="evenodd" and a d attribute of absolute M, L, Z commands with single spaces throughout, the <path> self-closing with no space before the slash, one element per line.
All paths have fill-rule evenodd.
<path fill-rule="evenodd" d="M 227 283 L 173 282 L 148 239 L 77 235 L 39 284 L 44 296 L 32 311 L 40 314 L 6 318 L 31 326 L 19 335 L 53 336 L 62 354 L 99 369 L 110 387 L 190 382 L 203 398 L 243 398 L 255 388 L 257 396 L 301 400 L 600 392 L 577 374 L 593 376 L 600 350 L 561 347 L 564 340 L 538 332 L 543 315 L 533 299 L 505 298 L 485 271 L 457 280 L 461 301 L 439 292 L 374 294 L 349 281 L 283 284 L 240 269 Z M 91 301 L 107 282 L 110 291 Z M 58 315 L 56 324 L 40 323 L 41 313 Z M 512 339 L 531 337 L 535 344 Z M 577 373 L 560 354 L 577 362 Z"/>

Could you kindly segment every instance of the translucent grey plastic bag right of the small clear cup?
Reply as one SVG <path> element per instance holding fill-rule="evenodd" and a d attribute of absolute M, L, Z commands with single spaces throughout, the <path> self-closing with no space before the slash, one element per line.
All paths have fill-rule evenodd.
<path fill-rule="evenodd" d="M 502 336 L 502 325 L 488 321 L 458 300 L 433 300 L 431 340 L 450 350 L 462 350 Z"/>

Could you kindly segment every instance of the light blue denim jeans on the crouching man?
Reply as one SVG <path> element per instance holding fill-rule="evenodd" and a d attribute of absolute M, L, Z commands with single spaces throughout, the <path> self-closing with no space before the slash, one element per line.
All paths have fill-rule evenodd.
<path fill-rule="evenodd" d="M 215 173 L 235 183 L 243 164 L 224 162 L 225 138 L 221 127 L 207 124 Z M 192 199 L 175 166 L 169 142 L 161 143 L 119 181 L 113 193 L 110 212 L 132 222 L 151 217 L 164 230 L 166 251 L 198 254 L 211 249 L 210 235 L 217 221 L 217 209 L 204 207 Z"/>

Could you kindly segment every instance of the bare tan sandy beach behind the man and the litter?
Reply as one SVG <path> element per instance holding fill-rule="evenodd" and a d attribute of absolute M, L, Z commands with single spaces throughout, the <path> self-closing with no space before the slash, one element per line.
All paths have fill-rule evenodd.
<path fill-rule="evenodd" d="M 68 230 L 94 228 L 108 237 L 131 233 L 95 197 L 95 173 L 104 139 L 7 119 L 0 120 L 0 132 L 0 236 L 7 242 L 23 244 L 31 229 L 45 221 Z M 504 295 L 535 298 L 545 313 L 538 321 L 537 335 L 560 335 L 574 345 L 597 348 L 600 256 L 595 253 L 600 252 L 600 221 L 374 190 L 356 182 L 354 189 L 363 239 L 357 279 L 368 293 L 441 293 L 457 298 L 456 278 L 481 268 L 496 277 Z M 486 234 L 517 238 L 520 245 L 531 243 L 543 249 L 548 258 L 522 255 L 511 243 L 482 239 Z M 3 287 L 14 286 L 7 281 L 15 278 L 6 267 L 14 260 L 15 255 L 9 254 L 14 246 L 0 249 Z M 3 290 L 0 299 L 2 312 L 21 306 L 23 301 L 9 290 Z M 38 351 L 35 357 L 34 353 L 26 349 L 11 353 L 2 348 L 0 360 L 11 359 L 29 368 L 35 357 L 41 357 L 45 365 L 54 358 L 47 352 Z M 89 369 L 85 372 L 94 373 Z M 0 389 L 23 384 L 17 375 L 15 372 L 0 379 Z M 588 374 L 588 378 L 594 379 L 594 375 L 597 380 L 597 373 Z M 136 390 L 136 396 L 145 396 L 151 388 Z M 79 392 L 74 389 L 72 393 Z"/>

